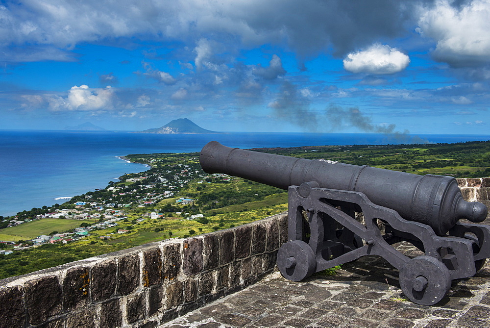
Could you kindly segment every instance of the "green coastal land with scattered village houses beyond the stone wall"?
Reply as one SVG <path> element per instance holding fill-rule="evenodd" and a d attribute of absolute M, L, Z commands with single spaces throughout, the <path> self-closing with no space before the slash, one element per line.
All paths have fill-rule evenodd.
<path fill-rule="evenodd" d="M 490 176 L 490 141 L 255 151 L 309 159 L 325 158 L 354 165 L 367 164 L 420 175 Z M 148 164 L 151 168 L 143 173 L 122 176 L 119 182 L 110 182 L 103 190 L 76 196 L 63 204 L 25 210 L 13 217 L 0 217 L 0 240 L 27 241 L 41 234 L 72 231 L 74 227 L 95 227 L 107 220 L 106 214 L 120 220 L 117 227 L 95 227 L 89 231 L 89 236 L 66 244 L 57 242 L 15 250 L 8 255 L 0 254 L 0 278 L 166 238 L 185 238 L 235 227 L 287 210 L 286 191 L 238 177 L 207 175 L 199 166 L 197 153 L 134 154 L 126 157 L 133 162 Z M 182 199 L 192 201 L 184 203 Z M 76 202 L 85 204 L 80 207 L 75 205 Z M 60 219 L 43 218 L 62 209 L 66 215 Z M 70 219 L 77 212 L 86 213 L 90 219 Z M 193 218 L 192 215 L 197 216 Z M 11 220 L 33 221 L 8 227 L 14 225 Z M 119 229 L 128 232 L 119 234 Z M 0 244 L 3 249 L 12 247 Z M 338 269 L 329 270 L 335 274 Z"/>

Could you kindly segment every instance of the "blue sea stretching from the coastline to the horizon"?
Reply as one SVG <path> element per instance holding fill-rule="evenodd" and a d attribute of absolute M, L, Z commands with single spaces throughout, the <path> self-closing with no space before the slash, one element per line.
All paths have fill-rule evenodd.
<path fill-rule="evenodd" d="M 490 135 L 403 135 L 375 133 L 140 134 L 124 132 L 0 131 L 0 215 L 14 215 L 62 197 L 104 188 L 126 173 L 146 171 L 117 156 L 194 152 L 209 141 L 243 149 L 319 145 L 380 145 L 426 141 L 486 141 Z M 58 198 L 58 199 L 57 199 Z"/>

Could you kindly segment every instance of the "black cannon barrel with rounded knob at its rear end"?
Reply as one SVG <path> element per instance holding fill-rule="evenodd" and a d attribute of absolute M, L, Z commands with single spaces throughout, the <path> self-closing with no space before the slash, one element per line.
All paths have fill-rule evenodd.
<path fill-rule="evenodd" d="M 211 141 L 199 161 L 207 173 L 243 177 L 287 190 L 315 181 L 320 188 L 358 191 L 406 220 L 429 225 L 442 236 L 460 219 L 482 222 L 487 207 L 463 200 L 454 177 L 390 171 L 326 159 L 305 159 L 229 148 Z"/>

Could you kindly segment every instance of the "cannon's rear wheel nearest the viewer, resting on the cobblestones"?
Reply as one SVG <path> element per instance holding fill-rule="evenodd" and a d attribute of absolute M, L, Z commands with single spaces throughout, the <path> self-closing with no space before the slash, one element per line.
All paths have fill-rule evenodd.
<path fill-rule="evenodd" d="M 438 303 L 451 288 L 449 270 L 428 255 L 417 256 L 403 264 L 399 278 L 403 293 L 421 305 Z"/>

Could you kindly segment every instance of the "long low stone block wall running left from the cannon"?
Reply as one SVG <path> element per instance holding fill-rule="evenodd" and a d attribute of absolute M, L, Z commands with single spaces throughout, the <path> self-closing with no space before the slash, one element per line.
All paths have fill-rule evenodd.
<path fill-rule="evenodd" d="M 287 214 L 0 280 L 0 327 L 155 327 L 270 274 Z"/>

